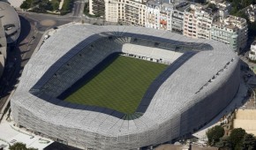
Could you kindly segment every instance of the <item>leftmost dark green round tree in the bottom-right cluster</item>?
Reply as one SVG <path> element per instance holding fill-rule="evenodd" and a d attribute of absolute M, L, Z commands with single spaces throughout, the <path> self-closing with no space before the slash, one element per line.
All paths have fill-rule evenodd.
<path fill-rule="evenodd" d="M 207 131 L 208 143 L 212 146 L 215 142 L 220 141 L 224 135 L 224 129 L 221 125 L 216 125 L 215 127 Z"/>

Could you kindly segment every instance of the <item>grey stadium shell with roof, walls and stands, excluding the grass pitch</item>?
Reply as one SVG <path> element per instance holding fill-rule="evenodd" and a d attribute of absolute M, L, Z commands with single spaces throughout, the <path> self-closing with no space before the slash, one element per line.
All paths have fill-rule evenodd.
<path fill-rule="evenodd" d="M 154 81 L 156 86 L 149 87 L 138 117 L 125 119 L 111 109 L 56 99 L 116 51 L 172 63 Z M 159 144 L 200 129 L 230 103 L 239 86 L 237 64 L 237 56 L 218 41 L 145 27 L 68 26 L 58 29 L 26 64 L 11 112 L 17 124 L 76 146 L 131 149 Z"/>

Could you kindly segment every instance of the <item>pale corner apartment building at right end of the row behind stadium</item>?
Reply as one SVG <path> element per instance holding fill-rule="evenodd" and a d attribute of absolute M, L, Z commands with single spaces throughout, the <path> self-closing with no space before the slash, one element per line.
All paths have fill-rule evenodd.
<path fill-rule="evenodd" d="M 230 48 L 237 53 L 245 48 L 247 36 L 246 19 L 236 16 L 229 15 L 223 19 L 219 18 L 213 23 L 211 28 L 211 39 L 230 45 Z"/>

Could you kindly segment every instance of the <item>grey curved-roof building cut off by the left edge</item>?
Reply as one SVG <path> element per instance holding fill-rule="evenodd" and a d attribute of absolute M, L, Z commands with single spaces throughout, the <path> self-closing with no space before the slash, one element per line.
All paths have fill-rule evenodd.
<path fill-rule="evenodd" d="M 0 77 L 7 57 L 7 44 L 16 41 L 20 33 L 19 16 L 7 3 L 0 2 Z"/>

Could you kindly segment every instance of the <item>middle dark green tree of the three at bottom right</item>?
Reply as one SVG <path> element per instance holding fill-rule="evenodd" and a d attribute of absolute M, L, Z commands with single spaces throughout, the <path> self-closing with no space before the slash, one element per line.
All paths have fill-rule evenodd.
<path fill-rule="evenodd" d="M 232 149 L 242 149 L 242 142 L 246 132 L 242 128 L 236 128 L 230 133 L 230 144 Z"/>

